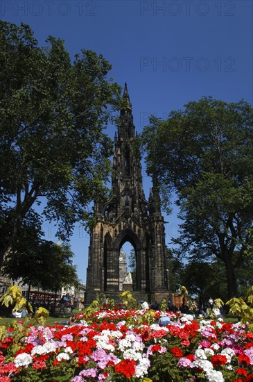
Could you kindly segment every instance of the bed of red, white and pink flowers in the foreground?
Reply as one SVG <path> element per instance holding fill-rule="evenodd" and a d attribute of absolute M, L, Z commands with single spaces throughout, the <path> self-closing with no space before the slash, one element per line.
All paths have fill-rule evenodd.
<path fill-rule="evenodd" d="M 247 326 L 167 313 L 163 327 L 159 315 L 107 310 L 73 326 L 0 326 L 0 382 L 253 381 Z"/>

